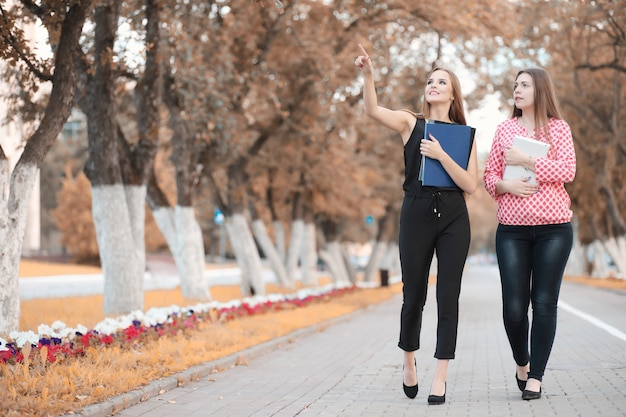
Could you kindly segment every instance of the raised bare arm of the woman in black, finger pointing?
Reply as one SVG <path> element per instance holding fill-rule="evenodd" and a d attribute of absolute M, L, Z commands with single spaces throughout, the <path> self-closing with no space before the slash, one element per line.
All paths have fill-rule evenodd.
<path fill-rule="evenodd" d="M 359 44 L 359 48 L 361 48 L 361 55 L 356 58 L 354 65 L 361 69 L 361 74 L 363 75 L 363 105 L 365 114 L 383 126 L 398 132 L 402 136 L 403 142 L 406 143 L 415 126 L 415 117 L 406 111 L 390 110 L 378 105 L 372 61 L 361 44 Z"/>

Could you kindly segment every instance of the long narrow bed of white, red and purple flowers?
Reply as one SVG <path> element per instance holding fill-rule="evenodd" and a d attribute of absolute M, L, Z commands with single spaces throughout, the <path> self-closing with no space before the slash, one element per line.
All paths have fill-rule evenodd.
<path fill-rule="evenodd" d="M 0 338 L 0 363 L 28 364 L 33 358 L 54 363 L 81 356 L 88 348 L 106 348 L 112 344 L 140 343 L 142 338 L 175 335 L 196 328 L 202 322 L 222 322 L 237 317 L 263 314 L 272 310 L 302 307 L 315 301 L 340 296 L 356 289 L 352 285 L 330 284 L 307 288 L 293 294 L 270 294 L 247 297 L 227 303 L 209 302 L 188 307 L 151 308 L 117 318 L 107 318 L 89 330 L 84 326 L 67 327 L 61 321 L 40 325 L 37 333 L 12 332 L 9 340 Z"/>

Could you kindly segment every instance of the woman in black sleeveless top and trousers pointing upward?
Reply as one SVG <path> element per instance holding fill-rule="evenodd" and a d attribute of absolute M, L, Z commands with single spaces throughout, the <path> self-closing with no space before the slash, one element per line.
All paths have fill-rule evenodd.
<path fill-rule="evenodd" d="M 464 193 L 478 187 L 476 145 L 472 144 L 467 170 L 441 148 L 432 135 L 424 139 L 425 122 L 465 125 L 463 100 L 458 78 L 436 68 L 424 88 L 422 113 L 390 110 L 378 105 L 372 63 L 361 45 L 355 65 L 363 74 L 365 114 L 398 132 L 404 143 L 404 200 L 400 215 L 400 262 L 402 266 L 402 311 L 400 340 L 404 351 L 403 389 L 410 398 L 418 391 L 414 352 L 420 348 L 422 310 L 426 302 L 428 275 L 437 254 L 437 367 L 428 396 L 429 404 L 445 402 L 448 362 L 454 359 L 458 324 L 461 276 L 470 243 L 470 225 Z M 422 186 L 418 179 L 421 157 L 438 160 L 457 187 Z"/>

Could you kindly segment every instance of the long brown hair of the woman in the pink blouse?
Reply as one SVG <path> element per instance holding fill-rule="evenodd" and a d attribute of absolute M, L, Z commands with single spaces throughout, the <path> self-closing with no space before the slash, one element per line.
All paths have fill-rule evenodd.
<path fill-rule="evenodd" d="M 533 80 L 533 91 L 535 95 L 535 130 L 538 135 L 544 135 L 545 139 L 550 141 L 550 132 L 548 130 L 548 120 L 552 117 L 562 119 L 559 99 L 556 95 L 556 89 L 552 83 L 552 78 L 548 71 L 543 68 L 526 68 L 517 73 L 515 80 L 521 74 L 528 74 Z M 522 110 L 513 105 L 513 114 L 511 117 L 520 117 Z"/>

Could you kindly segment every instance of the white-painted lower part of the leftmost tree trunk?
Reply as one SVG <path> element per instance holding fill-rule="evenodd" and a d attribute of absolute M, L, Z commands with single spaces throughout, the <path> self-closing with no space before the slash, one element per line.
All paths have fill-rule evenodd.
<path fill-rule="evenodd" d="M 0 160 L 0 335 L 20 326 L 19 268 L 37 170 L 20 164 L 10 174 L 9 162 Z"/>

